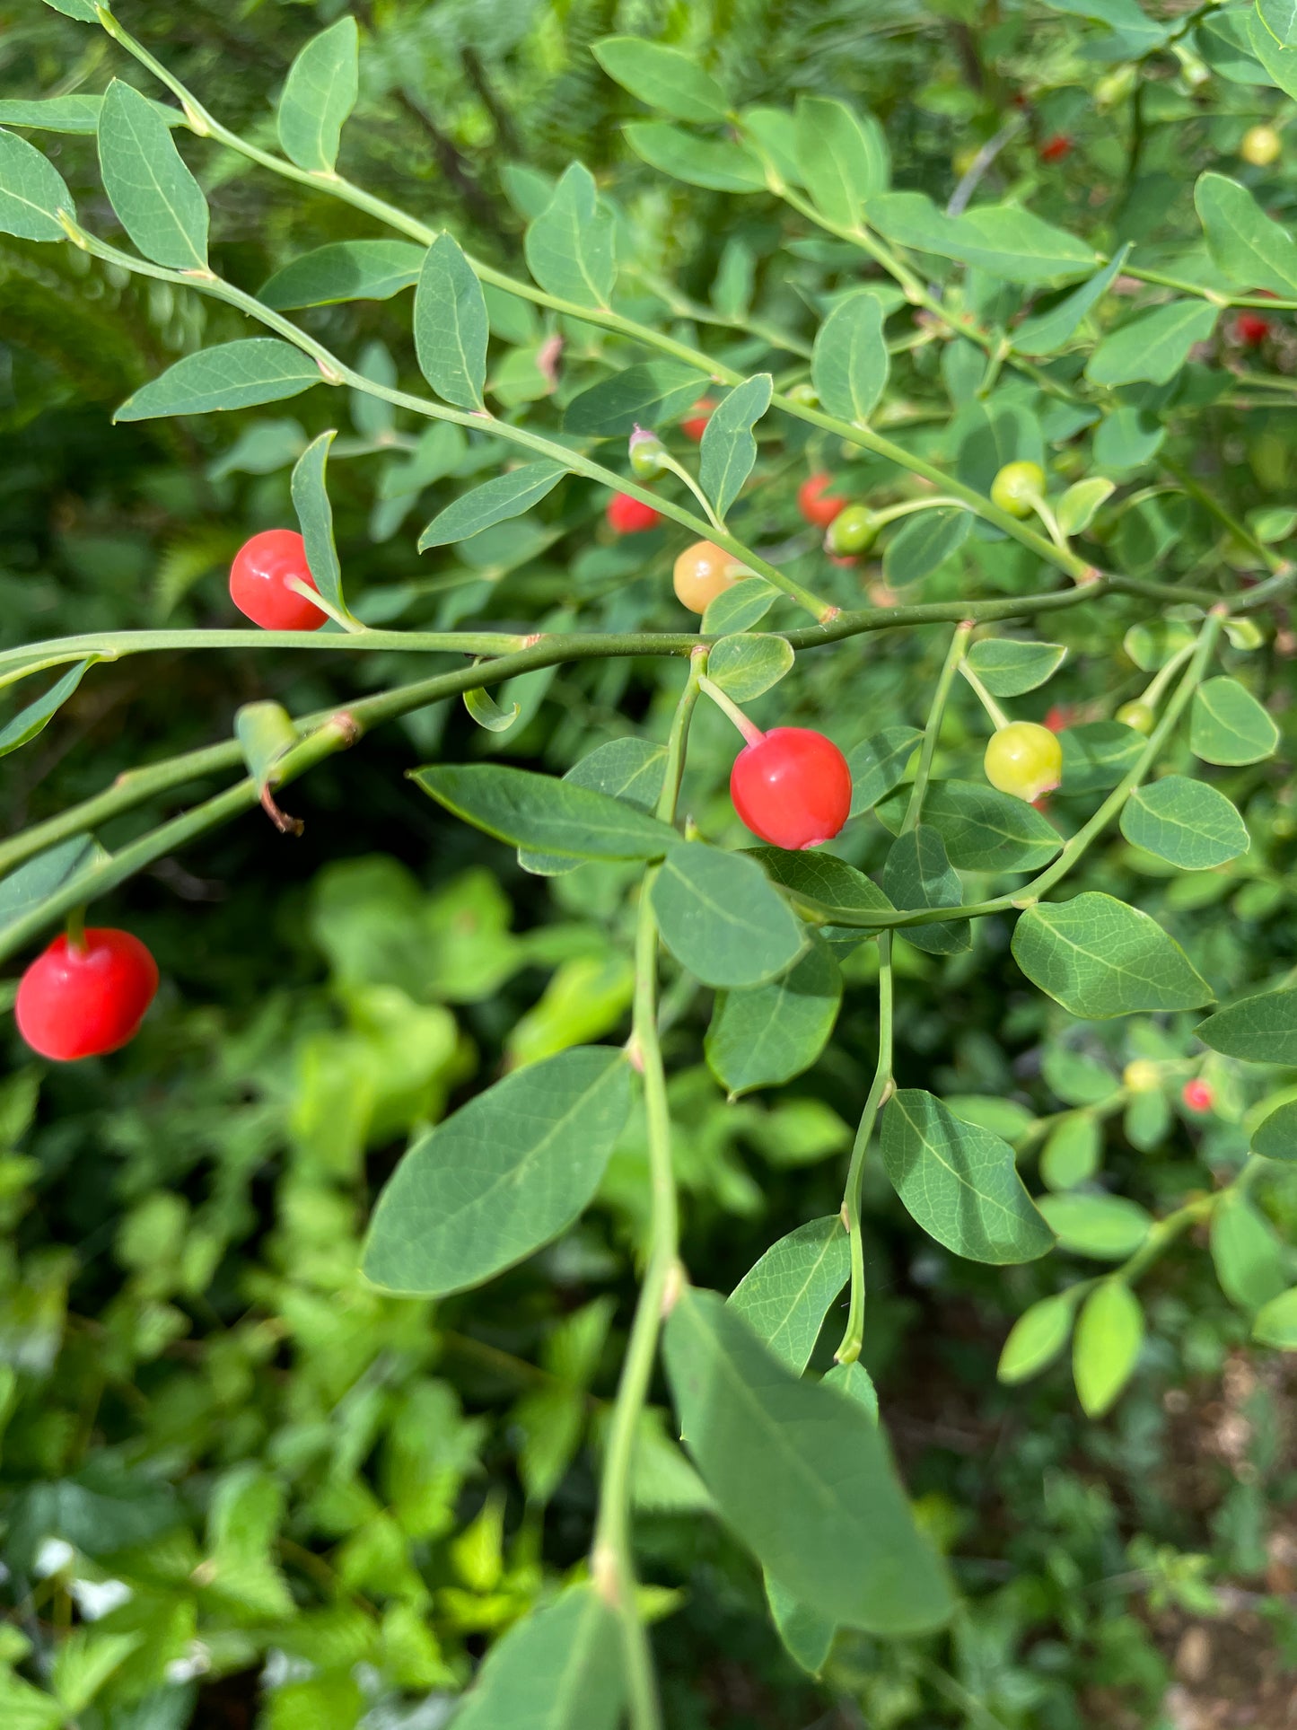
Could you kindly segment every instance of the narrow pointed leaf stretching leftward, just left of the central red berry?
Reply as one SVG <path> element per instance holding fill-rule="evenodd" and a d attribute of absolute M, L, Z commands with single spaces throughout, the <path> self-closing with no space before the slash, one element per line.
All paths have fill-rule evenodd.
<path fill-rule="evenodd" d="M 680 844 L 674 829 L 624 799 L 526 768 L 432 763 L 412 778 L 465 823 L 515 848 L 578 860 L 652 860 Z"/>

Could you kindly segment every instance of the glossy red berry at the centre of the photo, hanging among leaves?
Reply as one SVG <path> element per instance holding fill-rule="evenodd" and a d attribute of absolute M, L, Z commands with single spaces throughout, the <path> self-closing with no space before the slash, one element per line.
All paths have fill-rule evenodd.
<path fill-rule="evenodd" d="M 773 848 L 813 848 L 832 841 L 851 815 L 851 770 L 823 734 L 775 727 L 735 758 L 730 798 Z"/>

